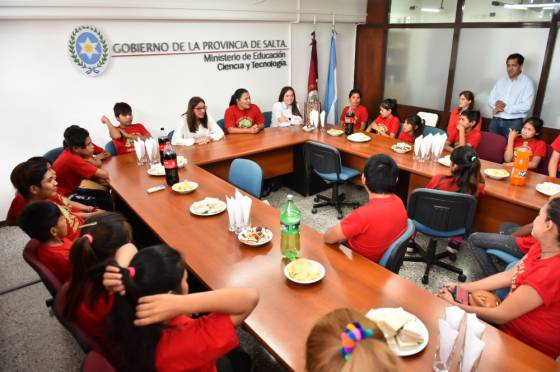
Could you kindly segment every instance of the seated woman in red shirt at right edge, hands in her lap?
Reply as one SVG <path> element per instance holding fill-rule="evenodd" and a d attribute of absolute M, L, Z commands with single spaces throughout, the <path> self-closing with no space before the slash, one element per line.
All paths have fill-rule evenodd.
<path fill-rule="evenodd" d="M 536 242 L 510 270 L 460 286 L 469 292 L 494 291 L 511 286 L 497 307 L 486 308 L 455 302 L 456 283 L 447 283 L 438 296 L 500 325 L 500 329 L 556 358 L 560 354 L 560 199 L 549 200 L 533 221 Z"/>

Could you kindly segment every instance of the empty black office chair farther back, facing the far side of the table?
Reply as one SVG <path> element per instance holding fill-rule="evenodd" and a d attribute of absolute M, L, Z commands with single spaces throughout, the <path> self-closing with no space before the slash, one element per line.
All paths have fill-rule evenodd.
<path fill-rule="evenodd" d="M 311 213 L 317 213 L 317 208 L 334 206 L 338 211 L 338 219 L 342 219 L 342 207 L 357 208 L 360 203 L 344 201 L 344 194 L 338 193 L 338 186 L 361 173 L 342 165 L 340 153 L 332 146 L 309 141 L 305 144 L 305 164 L 312 169 L 323 181 L 333 184 L 332 197 L 315 195 L 315 203 Z M 321 201 L 322 200 L 322 201 Z"/>

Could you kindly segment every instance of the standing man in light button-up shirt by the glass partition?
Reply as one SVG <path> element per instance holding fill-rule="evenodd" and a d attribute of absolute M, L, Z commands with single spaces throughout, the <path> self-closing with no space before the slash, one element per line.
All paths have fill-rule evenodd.
<path fill-rule="evenodd" d="M 521 130 L 535 97 L 533 82 L 522 72 L 524 61 L 521 54 L 509 55 L 506 60 L 508 74 L 496 82 L 488 97 L 493 113 L 490 131 L 506 138 L 510 128 Z"/>

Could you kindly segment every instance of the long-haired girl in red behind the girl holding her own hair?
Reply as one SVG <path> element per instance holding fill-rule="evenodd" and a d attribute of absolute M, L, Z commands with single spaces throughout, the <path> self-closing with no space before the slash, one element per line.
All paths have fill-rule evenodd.
<path fill-rule="evenodd" d="M 64 314 L 90 335 L 103 338 L 105 319 L 114 297 L 103 287 L 105 266 L 128 266 L 137 249 L 131 243 L 130 225 L 119 213 L 101 213 L 85 221 L 70 249 L 72 274 Z"/>

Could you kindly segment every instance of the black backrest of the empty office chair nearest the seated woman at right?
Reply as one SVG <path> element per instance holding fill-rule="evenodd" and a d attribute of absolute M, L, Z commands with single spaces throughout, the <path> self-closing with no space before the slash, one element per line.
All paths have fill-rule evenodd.
<path fill-rule="evenodd" d="M 408 218 L 430 235 L 467 236 L 476 204 L 476 198 L 469 194 L 420 188 L 410 194 L 407 213 Z"/>

